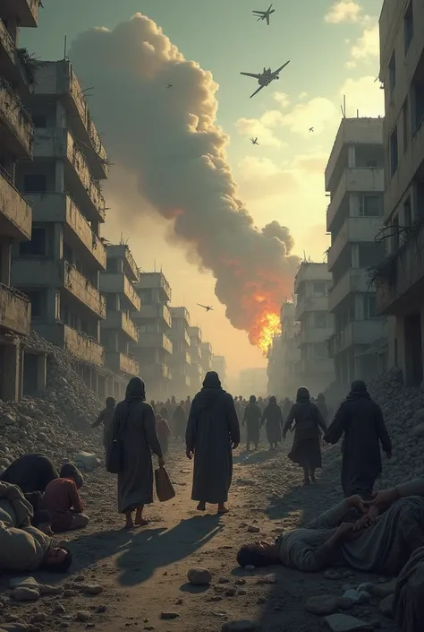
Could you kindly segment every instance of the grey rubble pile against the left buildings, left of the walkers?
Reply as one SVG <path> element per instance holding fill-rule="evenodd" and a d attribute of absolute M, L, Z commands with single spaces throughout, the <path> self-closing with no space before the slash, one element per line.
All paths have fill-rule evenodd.
<path fill-rule="evenodd" d="M 47 353 L 47 389 L 20 402 L 0 400 L 0 471 L 17 457 L 40 452 L 64 463 L 80 451 L 101 453 L 99 431 L 90 428 L 104 403 L 72 368 L 72 358 L 32 332 L 30 349 Z"/>

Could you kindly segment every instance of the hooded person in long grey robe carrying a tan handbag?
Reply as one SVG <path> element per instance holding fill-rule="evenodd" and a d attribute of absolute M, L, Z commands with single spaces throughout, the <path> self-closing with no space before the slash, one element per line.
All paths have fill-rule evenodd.
<path fill-rule="evenodd" d="M 114 411 L 113 437 L 122 446 L 122 468 L 118 474 L 118 510 L 125 514 L 125 528 L 144 526 L 145 505 L 153 502 L 153 466 L 151 453 L 157 455 L 159 466 L 165 464 L 157 438 L 155 413 L 146 403 L 146 387 L 140 377 L 131 377 L 123 402 Z"/>

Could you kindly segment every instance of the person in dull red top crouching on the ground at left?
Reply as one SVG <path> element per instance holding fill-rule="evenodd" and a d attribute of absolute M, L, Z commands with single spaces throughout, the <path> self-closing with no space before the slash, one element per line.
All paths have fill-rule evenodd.
<path fill-rule="evenodd" d="M 83 514 L 78 493 L 84 480 L 72 463 L 65 463 L 59 478 L 48 483 L 44 493 L 44 505 L 51 515 L 54 533 L 83 529 L 89 524 L 89 516 Z"/>

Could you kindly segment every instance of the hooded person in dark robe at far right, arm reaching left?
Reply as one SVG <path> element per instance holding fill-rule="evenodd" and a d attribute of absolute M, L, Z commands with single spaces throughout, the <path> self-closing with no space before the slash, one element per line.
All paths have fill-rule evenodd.
<path fill-rule="evenodd" d="M 382 470 L 380 443 L 387 458 L 391 458 L 392 441 L 383 413 L 362 380 L 352 382 L 351 392 L 335 413 L 324 440 L 335 444 L 342 436 L 344 498 L 359 494 L 368 500 Z"/>

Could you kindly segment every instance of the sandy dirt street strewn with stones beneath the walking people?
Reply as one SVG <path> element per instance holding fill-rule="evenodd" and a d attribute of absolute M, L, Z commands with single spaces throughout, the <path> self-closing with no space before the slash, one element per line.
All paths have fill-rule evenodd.
<path fill-rule="evenodd" d="M 301 472 L 284 450 L 238 452 L 231 513 L 223 517 L 215 515 L 216 507 L 206 515 L 195 510 L 190 499 L 191 463 L 182 445 L 171 446 L 166 465 L 176 498 L 148 507 L 151 523 L 131 532 L 123 530 L 123 516 L 116 514 L 114 477 L 101 468 L 89 474 L 83 496 L 91 524 L 83 532 L 67 534 L 74 555 L 72 575 L 53 578 L 66 583 L 65 596 L 43 597 L 31 604 L 6 602 L 0 608 L 0 622 L 44 618 L 36 624 L 40 630 L 71 632 L 219 632 L 227 620 L 251 619 L 267 632 L 318 632 L 326 629 L 325 621 L 306 613 L 304 602 L 313 595 L 341 595 L 343 584 L 366 579 L 360 574 L 331 580 L 323 573 L 302 575 L 284 567 L 250 572 L 236 567 L 235 555 L 243 541 L 273 540 L 342 498 L 338 464 L 328 453 L 317 485 L 303 488 Z M 259 527 L 259 533 L 248 532 L 249 526 Z M 196 590 L 187 583 L 187 572 L 195 566 L 212 572 L 207 589 Z M 261 578 L 270 573 L 275 583 L 263 583 Z M 52 576 L 37 577 L 52 583 Z M 100 584 L 103 591 L 84 596 L 81 582 Z M 7 577 L 2 578 L 4 587 Z M 177 616 L 163 619 L 165 612 Z M 354 607 L 349 614 L 373 621 L 375 628 L 397 630 L 378 614 L 377 603 Z M 78 616 L 87 620 L 76 620 Z"/>

